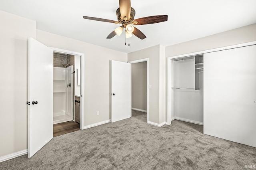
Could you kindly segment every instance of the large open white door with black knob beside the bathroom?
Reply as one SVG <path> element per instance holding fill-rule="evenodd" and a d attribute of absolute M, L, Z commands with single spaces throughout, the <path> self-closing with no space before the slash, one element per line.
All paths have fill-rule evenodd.
<path fill-rule="evenodd" d="M 28 158 L 53 138 L 53 50 L 28 40 Z"/>

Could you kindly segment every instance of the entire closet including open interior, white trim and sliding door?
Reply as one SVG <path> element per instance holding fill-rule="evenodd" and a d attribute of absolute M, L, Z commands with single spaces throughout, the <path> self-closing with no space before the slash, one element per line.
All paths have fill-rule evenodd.
<path fill-rule="evenodd" d="M 168 57 L 168 121 L 256 147 L 256 42 Z M 200 54 L 201 53 L 201 54 Z"/>

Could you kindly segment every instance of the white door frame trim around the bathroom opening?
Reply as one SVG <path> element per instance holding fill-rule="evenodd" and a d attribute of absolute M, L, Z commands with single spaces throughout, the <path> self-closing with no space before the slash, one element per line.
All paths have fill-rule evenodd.
<path fill-rule="evenodd" d="M 70 55 L 79 55 L 81 56 L 80 58 L 80 103 L 84 103 L 84 79 L 85 79 L 85 75 L 84 75 L 84 53 L 78 53 L 76 51 L 69 51 L 66 49 L 60 49 L 60 48 L 55 48 L 55 47 L 50 47 L 51 49 L 53 49 L 53 52 L 56 53 L 65 53 L 65 54 L 70 54 Z M 80 129 L 83 130 L 84 129 L 84 105 L 80 105 Z"/>

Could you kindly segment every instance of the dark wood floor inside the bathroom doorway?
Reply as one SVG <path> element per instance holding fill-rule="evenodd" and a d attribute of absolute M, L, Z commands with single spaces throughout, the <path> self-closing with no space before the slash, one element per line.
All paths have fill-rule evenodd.
<path fill-rule="evenodd" d="M 79 123 L 68 121 L 53 125 L 53 137 L 80 130 Z"/>

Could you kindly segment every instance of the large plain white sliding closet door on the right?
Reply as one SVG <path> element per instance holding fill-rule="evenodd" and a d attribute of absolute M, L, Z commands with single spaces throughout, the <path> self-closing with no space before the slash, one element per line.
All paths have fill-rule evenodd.
<path fill-rule="evenodd" d="M 256 45 L 204 54 L 204 134 L 256 147 Z"/>

